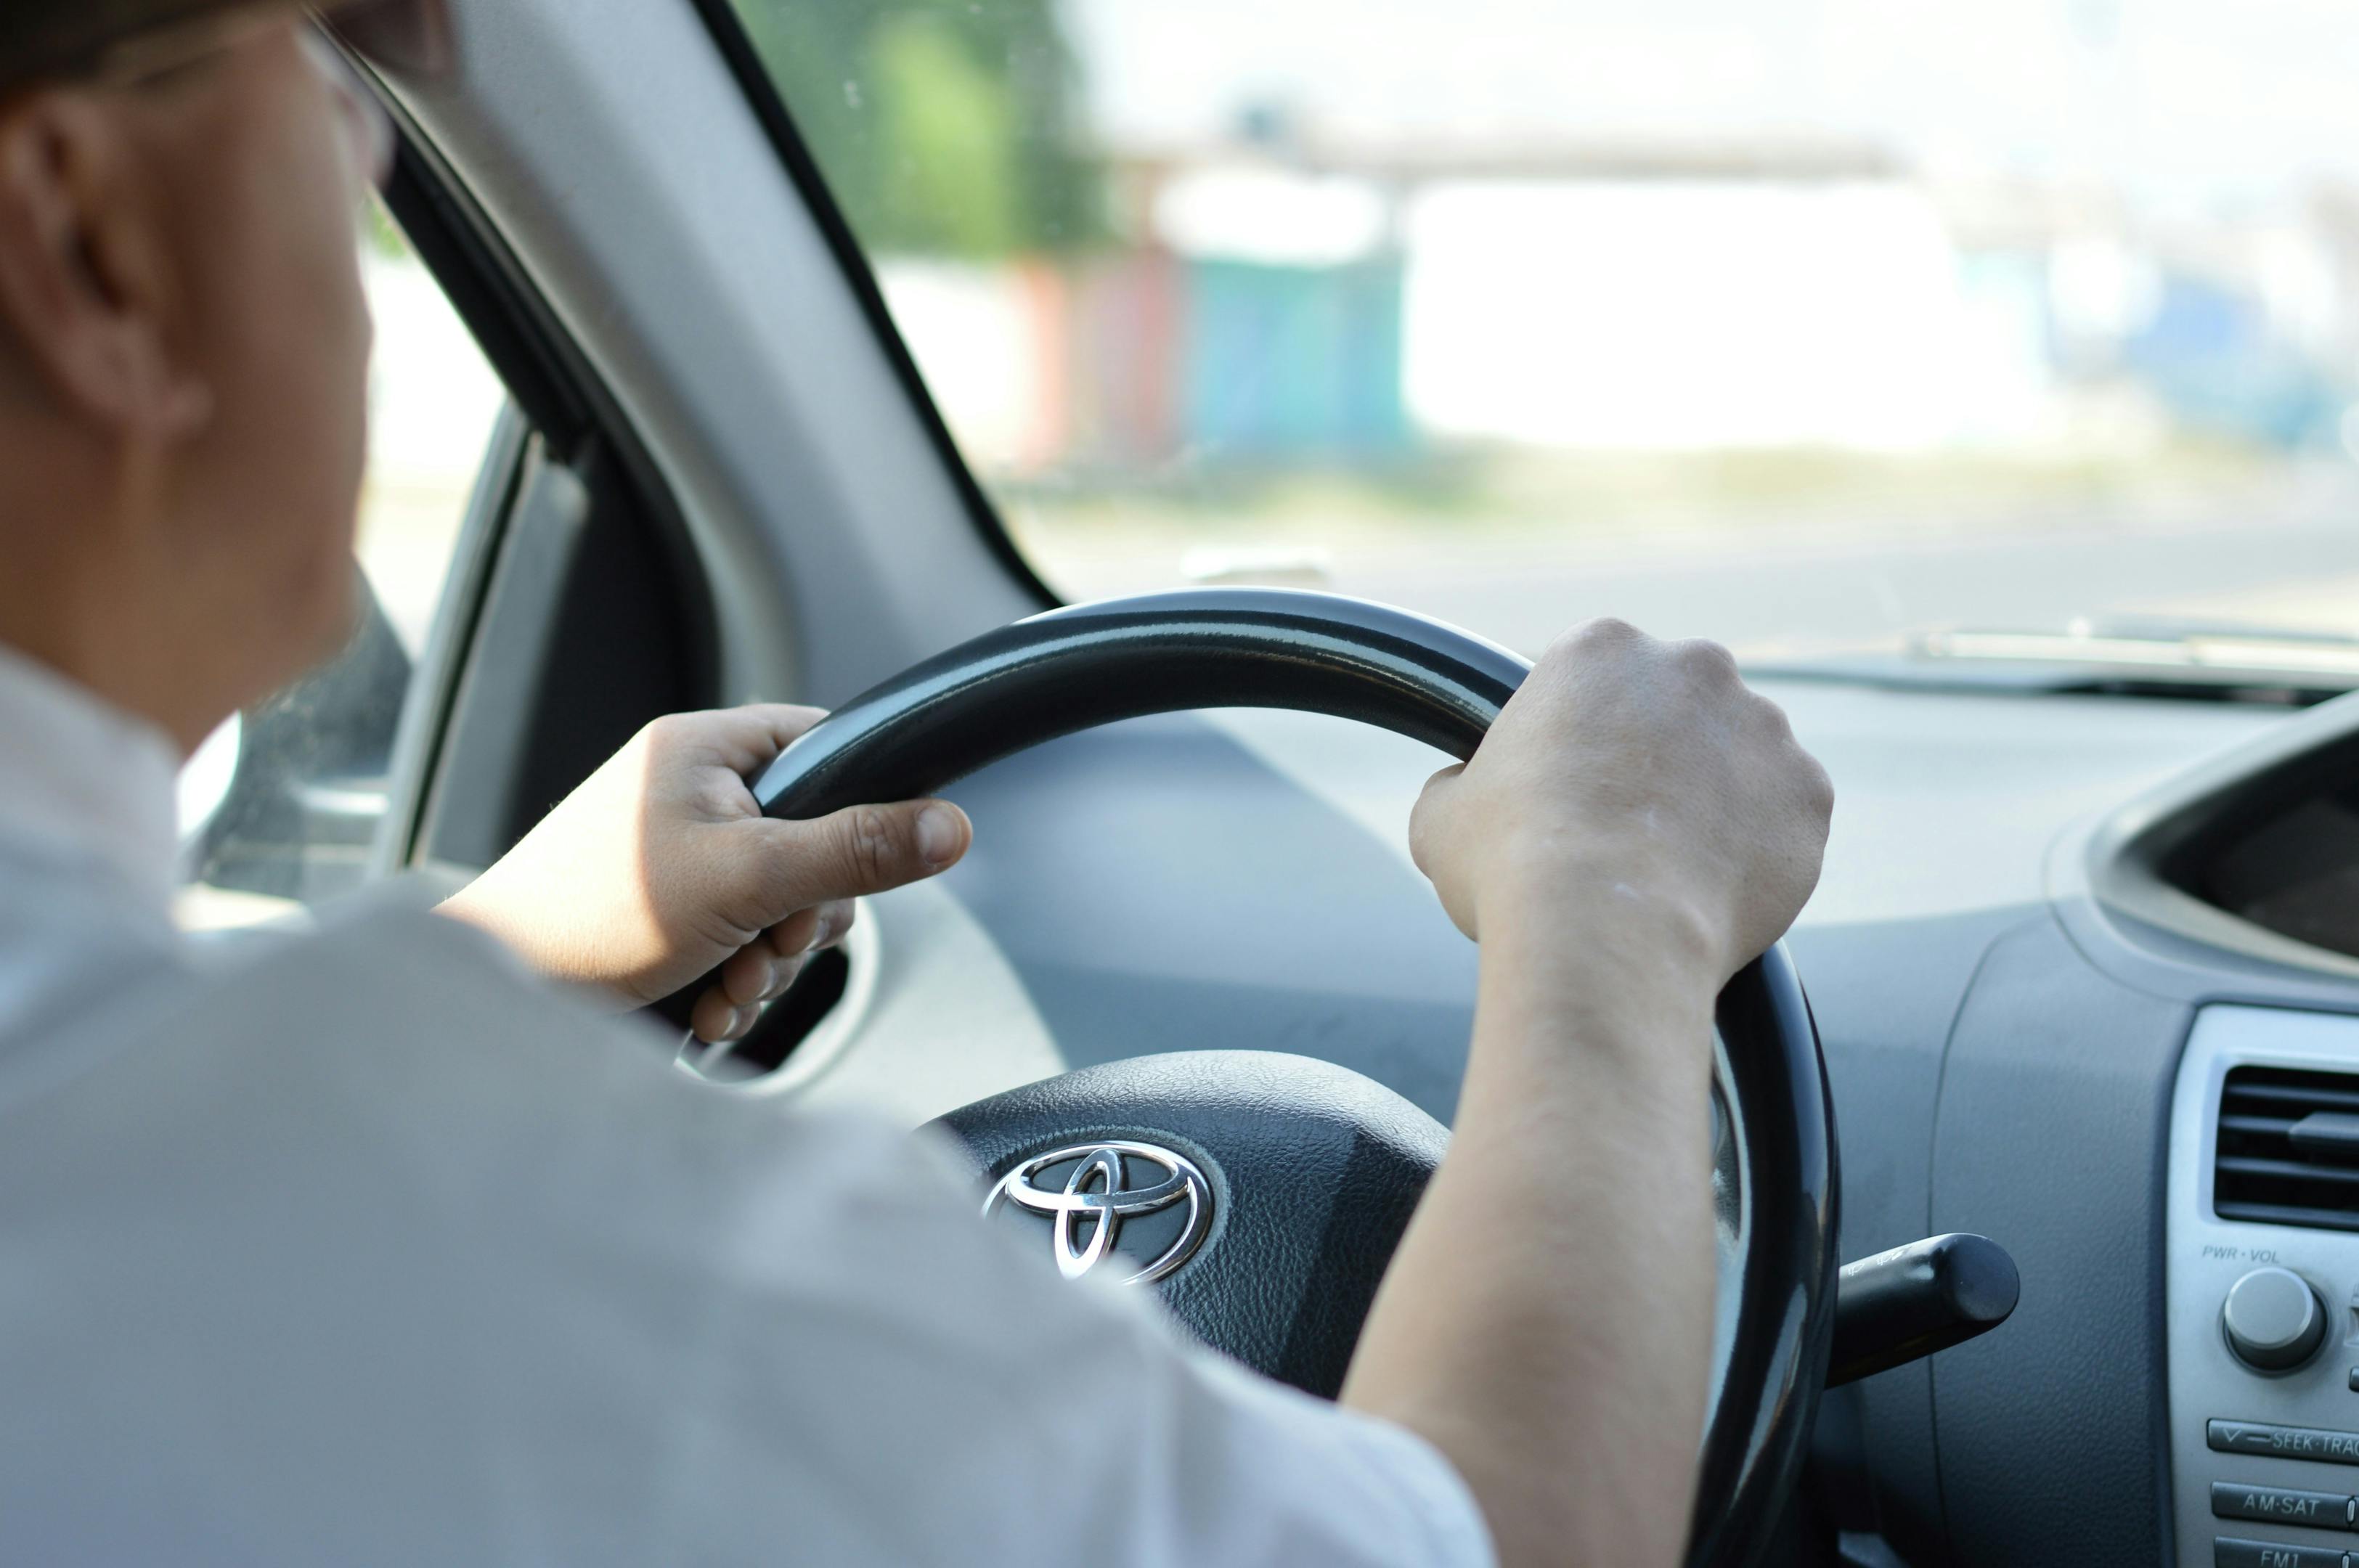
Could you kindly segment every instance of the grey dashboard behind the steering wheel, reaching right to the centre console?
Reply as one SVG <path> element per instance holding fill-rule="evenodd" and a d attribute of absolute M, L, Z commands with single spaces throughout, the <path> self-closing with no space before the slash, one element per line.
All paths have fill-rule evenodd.
<path fill-rule="evenodd" d="M 2359 960 L 2217 903 L 2182 856 L 2225 802 L 2359 731 L 2359 705 L 1762 689 L 1840 792 L 1790 946 L 1835 1092 L 1842 1254 L 1977 1231 L 2022 1271 L 2000 1330 L 1828 1394 L 1812 1537 L 1842 1554 L 1772 1561 L 2359 1561 L 2359 1231 L 2222 1219 L 2206 1186 L 2232 1073 L 2350 1073 L 2359 1115 Z M 1439 764 L 1220 712 L 977 773 L 951 790 L 974 854 L 875 901 L 870 1016 L 809 1094 L 922 1120 L 1109 1056 L 1257 1047 L 1446 1120 L 1474 953 L 1404 837 Z M 2326 1325 L 2295 1368 L 2253 1363 L 2309 1332 L 2286 1330 L 2286 1280 L 2276 1318 L 2250 1287 L 2248 1353 L 2227 1337 L 2229 1292 L 2265 1269 Z"/>

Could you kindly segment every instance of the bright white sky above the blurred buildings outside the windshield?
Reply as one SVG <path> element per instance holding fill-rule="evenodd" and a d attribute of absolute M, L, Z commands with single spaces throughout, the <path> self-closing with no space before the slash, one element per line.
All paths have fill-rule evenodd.
<path fill-rule="evenodd" d="M 1253 106 L 1338 141 L 1861 141 L 2163 217 L 2359 189 L 2350 0 L 1066 0 L 1095 130 Z"/>

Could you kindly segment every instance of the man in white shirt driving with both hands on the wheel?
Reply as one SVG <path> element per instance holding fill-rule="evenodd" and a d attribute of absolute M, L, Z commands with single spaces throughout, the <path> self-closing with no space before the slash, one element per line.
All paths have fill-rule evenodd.
<path fill-rule="evenodd" d="M 1481 988 L 1340 1403 L 625 1019 L 710 974 L 738 1037 L 965 854 L 946 802 L 760 816 L 816 712 L 649 726 L 436 913 L 175 934 L 179 762 L 351 627 L 387 146 L 290 2 L 0 12 L 0 1556 L 1680 1563 L 1713 1000 L 1831 811 L 1710 644 L 1578 627 L 1418 804 Z"/>

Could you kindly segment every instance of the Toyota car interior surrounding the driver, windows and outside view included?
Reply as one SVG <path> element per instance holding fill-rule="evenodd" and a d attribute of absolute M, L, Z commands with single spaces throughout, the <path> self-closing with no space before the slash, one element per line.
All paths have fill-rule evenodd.
<path fill-rule="evenodd" d="M 1418 790 L 1576 620 L 1715 637 L 1838 813 L 1720 1009 L 1689 1561 L 2347 1568 L 2347 19 L 1182 9 L 453 0 L 455 75 L 356 61 L 370 608 L 191 759 L 182 922 L 840 710 L 764 806 L 974 849 L 679 1070 L 979 1198 L 1194 1151 L 1227 1228 L 1139 1287 L 1333 1394 L 1474 1002 Z"/>

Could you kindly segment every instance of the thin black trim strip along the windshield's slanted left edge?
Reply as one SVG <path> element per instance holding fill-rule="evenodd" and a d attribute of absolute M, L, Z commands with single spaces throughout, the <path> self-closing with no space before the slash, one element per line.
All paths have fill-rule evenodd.
<path fill-rule="evenodd" d="M 1064 597 L 1059 597 L 1057 589 L 1040 578 L 1031 559 L 1026 559 L 1024 549 L 1017 545 L 1014 535 L 1007 533 L 1007 523 L 1000 519 L 1000 509 L 993 505 L 991 493 L 974 476 L 974 469 L 967 467 L 967 455 L 958 450 L 958 436 L 951 434 L 948 422 L 941 417 L 941 408 L 934 403 L 934 394 L 925 384 L 925 373 L 918 368 L 918 358 L 911 354 L 908 340 L 901 337 L 901 328 L 892 318 L 892 307 L 885 304 L 885 288 L 878 283 L 875 269 L 868 264 L 868 252 L 861 250 L 859 236 L 852 233 L 852 222 L 845 219 L 845 210 L 837 205 L 819 160 L 811 156 L 809 144 L 795 127 L 795 116 L 788 108 L 786 97 L 771 80 L 769 68 L 762 66 L 762 54 L 755 50 L 753 35 L 738 19 L 736 7 L 731 0 L 691 2 L 705 24 L 705 31 L 712 35 L 729 75 L 736 78 L 738 90 L 753 106 L 755 120 L 760 120 L 771 151 L 776 151 L 778 163 L 786 165 L 786 177 L 802 198 L 811 222 L 819 226 L 819 236 L 835 257 L 835 266 L 852 288 L 852 297 L 868 318 L 868 330 L 875 337 L 878 349 L 882 349 L 885 363 L 892 365 L 894 377 L 901 382 L 901 391 L 908 398 L 911 410 L 918 415 L 918 424 L 925 429 L 927 441 L 934 446 L 934 455 L 951 476 L 951 486 L 965 505 L 967 521 L 981 535 L 991 556 L 1007 571 L 1026 597 L 1038 601 L 1043 611 L 1062 606 Z"/>

